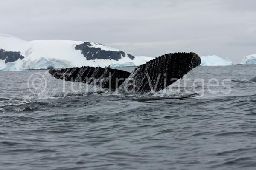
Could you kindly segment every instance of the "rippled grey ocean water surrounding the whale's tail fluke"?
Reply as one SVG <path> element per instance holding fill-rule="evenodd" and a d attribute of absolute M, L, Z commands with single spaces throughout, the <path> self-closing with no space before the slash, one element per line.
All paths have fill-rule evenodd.
<path fill-rule="evenodd" d="M 128 96 L 2 71 L 0 169 L 255 170 L 255 75 L 255 65 L 198 67 L 166 91 Z"/>

